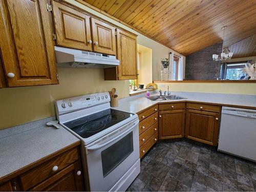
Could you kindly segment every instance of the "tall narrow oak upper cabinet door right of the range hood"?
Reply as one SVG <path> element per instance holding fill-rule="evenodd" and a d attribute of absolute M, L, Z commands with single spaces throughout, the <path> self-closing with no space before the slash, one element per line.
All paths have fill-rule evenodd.
<path fill-rule="evenodd" d="M 136 36 L 117 29 L 118 79 L 137 79 L 137 40 Z"/>

